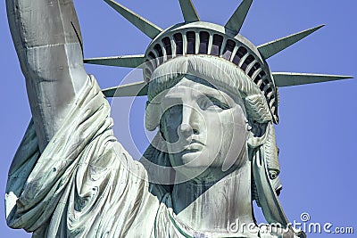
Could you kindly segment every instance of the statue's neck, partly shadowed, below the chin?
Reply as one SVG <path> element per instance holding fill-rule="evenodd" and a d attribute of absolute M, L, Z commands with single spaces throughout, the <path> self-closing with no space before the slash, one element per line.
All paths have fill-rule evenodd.
<path fill-rule="evenodd" d="M 207 233 L 226 233 L 237 220 L 253 224 L 251 181 L 251 163 L 246 162 L 213 185 L 192 181 L 175 185 L 174 212 L 180 222 Z"/>

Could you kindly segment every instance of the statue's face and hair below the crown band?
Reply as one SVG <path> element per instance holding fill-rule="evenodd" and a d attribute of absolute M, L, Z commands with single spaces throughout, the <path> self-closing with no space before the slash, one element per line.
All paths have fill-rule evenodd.
<path fill-rule="evenodd" d="M 190 179 L 217 179 L 245 165 L 248 142 L 271 122 L 264 95 L 245 72 L 207 55 L 163 63 L 148 97 L 146 128 L 159 128 L 160 150 Z"/>

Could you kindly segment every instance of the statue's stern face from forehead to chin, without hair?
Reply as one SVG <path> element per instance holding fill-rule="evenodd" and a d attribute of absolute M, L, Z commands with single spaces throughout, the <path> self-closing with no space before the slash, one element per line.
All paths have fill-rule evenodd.
<path fill-rule="evenodd" d="M 162 97 L 162 135 L 173 168 L 184 176 L 220 177 L 246 158 L 247 120 L 240 97 L 186 77 Z"/>

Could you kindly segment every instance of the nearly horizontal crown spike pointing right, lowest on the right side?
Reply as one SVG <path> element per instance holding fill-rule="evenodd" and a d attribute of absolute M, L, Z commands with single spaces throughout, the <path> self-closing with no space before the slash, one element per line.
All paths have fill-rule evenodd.
<path fill-rule="evenodd" d="M 276 86 L 297 86 L 314 83 L 323 83 L 334 80 L 353 78 L 352 76 L 343 75 L 325 75 L 325 74 L 306 74 L 306 73 L 271 73 Z"/>

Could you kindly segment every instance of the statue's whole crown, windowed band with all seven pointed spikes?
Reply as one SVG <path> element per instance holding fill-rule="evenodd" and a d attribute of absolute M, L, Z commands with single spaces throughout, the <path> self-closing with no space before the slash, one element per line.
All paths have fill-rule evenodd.
<path fill-rule="evenodd" d="M 235 64 L 238 69 L 245 71 L 245 74 L 264 94 L 274 123 L 278 124 L 278 87 L 352 78 L 338 75 L 271 72 L 266 62 L 268 58 L 286 49 L 286 47 L 294 45 L 324 25 L 306 29 L 263 45 L 253 45 L 239 34 L 253 0 L 243 0 L 225 26 L 200 21 L 192 1 L 179 0 L 185 21 L 165 30 L 121 4 L 112 0 L 104 0 L 104 2 L 145 33 L 146 36 L 153 39 L 145 54 L 84 60 L 84 62 L 92 64 L 143 68 L 144 81 L 104 89 L 104 95 L 107 97 L 145 95 L 151 75 L 162 63 L 179 56 L 210 55 L 227 60 Z"/>

